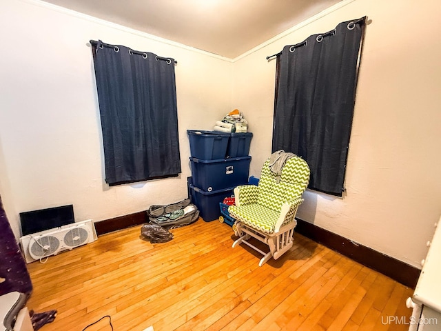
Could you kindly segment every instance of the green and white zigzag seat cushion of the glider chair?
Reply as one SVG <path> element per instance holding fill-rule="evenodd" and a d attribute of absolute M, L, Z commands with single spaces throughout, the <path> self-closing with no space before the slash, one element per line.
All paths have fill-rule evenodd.
<path fill-rule="evenodd" d="M 275 212 L 257 203 L 241 205 L 240 207 L 230 205 L 228 212 L 234 219 L 268 234 L 274 232 L 274 225 L 276 225 L 280 216 L 279 212 Z"/>

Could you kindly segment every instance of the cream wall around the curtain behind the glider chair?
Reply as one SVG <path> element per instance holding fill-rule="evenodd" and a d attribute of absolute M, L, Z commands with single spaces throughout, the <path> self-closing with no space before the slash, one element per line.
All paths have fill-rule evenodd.
<path fill-rule="evenodd" d="M 344 4 L 345 6 L 342 6 Z M 276 61 L 265 57 L 368 16 L 342 199 L 308 191 L 298 217 L 420 268 L 441 214 L 441 1 L 355 0 L 236 59 L 232 102 L 271 154 Z"/>

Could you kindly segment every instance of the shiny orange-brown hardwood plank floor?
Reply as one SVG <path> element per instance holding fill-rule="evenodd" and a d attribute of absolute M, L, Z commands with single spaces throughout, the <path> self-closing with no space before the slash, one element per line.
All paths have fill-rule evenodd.
<path fill-rule="evenodd" d="M 407 330 L 413 290 L 295 234 L 287 254 L 232 248 L 218 221 L 140 239 L 141 225 L 28 265 L 28 308 L 58 310 L 42 331 L 76 331 L 105 315 L 114 330 Z M 391 322 L 391 323 L 388 323 Z M 111 330 L 109 319 L 87 329 Z"/>

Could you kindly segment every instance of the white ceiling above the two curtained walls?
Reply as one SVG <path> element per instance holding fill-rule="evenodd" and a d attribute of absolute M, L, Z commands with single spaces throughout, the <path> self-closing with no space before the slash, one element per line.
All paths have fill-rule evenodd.
<path fill-rule="evenodd" d="M 45 0 L 234 59 L 340 0 Z"/>

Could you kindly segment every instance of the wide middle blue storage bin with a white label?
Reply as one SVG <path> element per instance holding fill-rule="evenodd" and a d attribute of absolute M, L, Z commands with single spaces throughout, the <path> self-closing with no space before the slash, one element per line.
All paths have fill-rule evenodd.
<path fill-rule="evenodd" d="M 248 182 L 251 157 L 201 160 L 190 157 L 193 185 L 205 192 L 232 188 Z"/>

